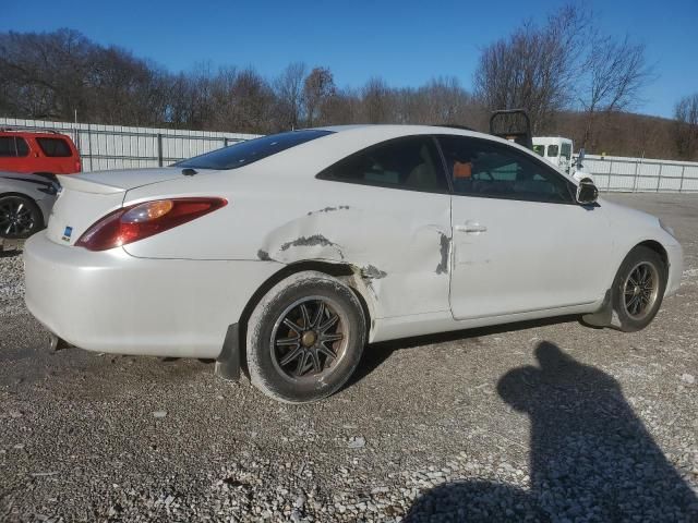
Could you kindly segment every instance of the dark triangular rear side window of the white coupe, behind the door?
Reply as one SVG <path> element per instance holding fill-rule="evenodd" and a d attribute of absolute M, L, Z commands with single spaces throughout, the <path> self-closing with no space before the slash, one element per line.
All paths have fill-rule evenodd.
<path fill-rule="evenodd" d="M 317 178 L 424 192 L 448 191 L 431 136 L 407 136 L 374 145 L 338 161 Z"/>

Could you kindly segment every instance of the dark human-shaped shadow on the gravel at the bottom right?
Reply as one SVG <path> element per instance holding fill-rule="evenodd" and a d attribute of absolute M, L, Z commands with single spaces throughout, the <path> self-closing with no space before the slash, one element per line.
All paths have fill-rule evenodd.
<path fill-rule="evenodd" d="M 540 366 L 510 370 L 500 396 L 531 417 L 530 490 L 491 482 L 445 484 L 407 522 L 698 521 L 698 498 L 652 440 L 607 374 L 556 345 Z"/>

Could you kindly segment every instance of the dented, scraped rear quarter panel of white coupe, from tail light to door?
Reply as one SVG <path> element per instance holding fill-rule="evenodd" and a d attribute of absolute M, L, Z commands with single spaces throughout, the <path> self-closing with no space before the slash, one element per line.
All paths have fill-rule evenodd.
<path fill-rule="evenodd" d="M 132 256 L 347 264 L 375 318 L 449 311 L 449 195 L 268 172 L 268 162 L 156 187 L 157 197 L 222 196 L 228 205 L 127 245 Z M 127 200 L 151 199 L 154 191 L 131 191 Z M 244 277 L 232 264 L 231 278 Z"/>

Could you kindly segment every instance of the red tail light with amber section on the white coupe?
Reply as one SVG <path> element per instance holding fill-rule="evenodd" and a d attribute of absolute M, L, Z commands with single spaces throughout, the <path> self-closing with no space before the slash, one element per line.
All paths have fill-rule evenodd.
<path fill-rule="evenodd" d="M 93 224 L 75 243 L 89 251 L 106 251 L 201 218 L 220 207 L 224 198 L 171 198 L 117 209 Z"/>

